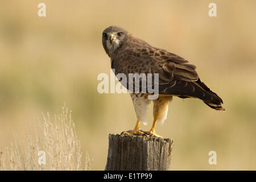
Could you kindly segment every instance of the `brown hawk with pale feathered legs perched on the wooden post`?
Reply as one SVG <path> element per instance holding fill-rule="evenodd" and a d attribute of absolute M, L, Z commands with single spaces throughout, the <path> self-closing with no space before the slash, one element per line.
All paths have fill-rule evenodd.
<path fill-rule="evenodd" d="M 142 39 L 135 38 L 128 31 L 121 27 L 110 26 L 102 33 L 102 45 L 111 59 L 111 68 L 115 72 L 123 73 L 158 73 L 158 98 L 154 102 L 154 121 L 150 131 L 139 130 L 140 122 L 146 122 L 146 110 L 151 100 L 151 94 L 146 91 L 142 93 L 130 92 L 131 100 L 137 123 L 133 130 L 125 131 L 130 135 L 150 135 L 161 137 L 155 133 L 156 122 L 163 122 L 167 118 L 168 104 L 173 96 L 180 98 L 199 98 L 212 109 L 224 111 L 223 101 L 216 93 L 212 92 L 204 82 L 201 82 L 196 66 L 189 64 L 174 53 L 164 49 L 150 46 Z M 121 80 L 119 79 L 121 82 Z M 128 80 L 127 82 L 133 82 Z M 140 80 L 141 81 L 141 80 Z M 127 84 L 123 84 L 127 88 Z M 140 86 L 141 88 L 141 86 Z"/>

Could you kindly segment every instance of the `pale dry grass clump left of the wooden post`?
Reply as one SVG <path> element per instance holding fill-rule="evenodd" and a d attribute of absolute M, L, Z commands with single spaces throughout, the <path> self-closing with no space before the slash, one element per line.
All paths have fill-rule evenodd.
<path fill-rule="evenodd" d="M 71 110 L 67 106 L 55 122 L 50 115 L 43 114 L 43 121 L 27 134 L 22 142 L 14 134 L 15 142 L 0 152 L 0 170 L 88 170 L 90 158 L 86 153 L 85 164 L 82 165 L 81 142 L 77 139 L 75 123 Z M 40 164 L 39 151 L 46 154 L 45 164 Z"/>

